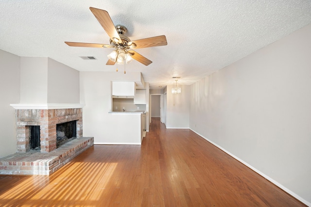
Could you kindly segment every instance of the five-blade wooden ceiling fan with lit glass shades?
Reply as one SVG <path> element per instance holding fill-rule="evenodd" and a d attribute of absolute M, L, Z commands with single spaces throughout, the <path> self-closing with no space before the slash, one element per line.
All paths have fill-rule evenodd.
<path fill-rule="evenodd" d="M 72 47 L 116 48 L 108 55 L 109 59 L 106 65 L 129 63 L 133 59 L 137 60 L 141 64 L 149 65 L 152 61 L 134 51 L 133 48 L 150 48 L 167 45 L 165 35 L 131 41 L 130 38 L 125 35 L 127 29 L 122 25 L 115 26 L 108 12 L 93 7 L 90 7 L 89 9 L 110 37 L 110 45 L 79 42 L 65 43 Z"/>

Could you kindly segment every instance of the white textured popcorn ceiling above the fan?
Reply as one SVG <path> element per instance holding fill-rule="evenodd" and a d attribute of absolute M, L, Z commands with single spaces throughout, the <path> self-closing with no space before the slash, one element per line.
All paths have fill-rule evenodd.
<path fill-rule="evenodd" d="M 109 44 L 90 6 L 106 10 L 131 40 L 166 35 L 167 46 L 136 49 L 152 64 L 126 65 L 153 89 L 173 85 L 174 76 L 189 85 L 311 23 L 311 0 L 0 0 L 0 49 L 80 71 L 115 71 L 105 65 L 112 48 L 64 43 Z"/>

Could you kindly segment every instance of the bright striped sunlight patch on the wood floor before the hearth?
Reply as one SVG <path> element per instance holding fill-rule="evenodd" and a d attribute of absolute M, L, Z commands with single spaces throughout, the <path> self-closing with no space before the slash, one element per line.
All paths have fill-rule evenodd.
<path fill-rule="evenodd" d="M 118 163 L 70 162 L 50 176 L 29 176 L 0 193 L 0 206 L 96 206 Z M 92 177 L 90 179 L 90 177 Z"/>

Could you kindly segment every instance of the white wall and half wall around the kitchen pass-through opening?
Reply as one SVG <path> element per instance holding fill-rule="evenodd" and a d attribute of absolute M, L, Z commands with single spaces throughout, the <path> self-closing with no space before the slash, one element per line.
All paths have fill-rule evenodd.
<path fill-rule="evenodd" d="M 80 72 L 80 103 L 85 104 L 83 136 L 94 137 L 94 143 L 128 143 L 126 138 L 131 128 L 133 133 L 140 134 L 140 114 L 127 116 L 108 113 L 111 111 L 113 80 L 140 81 L 140 72 Z M 135 127 L 135 123 L 139 123 L 139 126 Z"/>

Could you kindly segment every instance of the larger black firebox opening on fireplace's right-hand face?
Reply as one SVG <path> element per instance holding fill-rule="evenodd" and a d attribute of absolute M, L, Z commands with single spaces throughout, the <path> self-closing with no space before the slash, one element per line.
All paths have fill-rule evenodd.
<path fill-rule="evenodd" d="M 77 137 L 77 121 L 65 122 L 56 125 L 56 147 Z"/>

